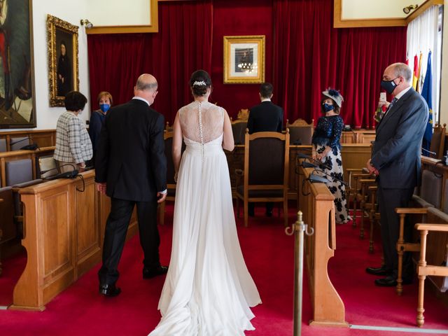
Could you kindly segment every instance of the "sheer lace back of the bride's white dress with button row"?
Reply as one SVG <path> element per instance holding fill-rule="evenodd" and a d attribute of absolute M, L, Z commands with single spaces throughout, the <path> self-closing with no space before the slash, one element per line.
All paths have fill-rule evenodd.
<path fill-rule="evenodd" d="M 224 110 L 209 102 L 192 102 L 179 110 L 183 137 L 207 144 L 223 134 Z"/>

